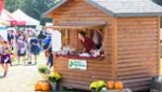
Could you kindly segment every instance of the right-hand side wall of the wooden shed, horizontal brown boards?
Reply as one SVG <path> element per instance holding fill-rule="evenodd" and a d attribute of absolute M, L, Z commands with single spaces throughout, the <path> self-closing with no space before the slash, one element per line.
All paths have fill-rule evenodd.
<path fill-rule="evenodd" d="M 159 17 L 117 18 L 117 80 L 132 90 L 148 89 L 160 67 Z"/>

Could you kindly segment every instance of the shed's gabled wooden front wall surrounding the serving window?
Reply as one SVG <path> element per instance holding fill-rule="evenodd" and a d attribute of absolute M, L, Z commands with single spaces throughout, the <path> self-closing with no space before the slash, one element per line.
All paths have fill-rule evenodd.
<path fill-rule="evenodd" d="M 99 24 L 109 22 L 109 25 L 104 28 L 105 37 L 105 61 L 88 61 L 88 70 L 70 70 L 67 67 L 66 60 L 54 60 L 55 61 L 55 69 L 58 73 L 62 75 L 61 84 L 65 84 L 65 87 L 72 87 L 74 89 L 88 89 L 88 86 L 91 81 L 95 80 L 114 80 L 113 73 L 113 56 L 114 48 L 112 43 L 114 43 L 113 39 L 113 22 L 112 17 L 108 16 L 105 13 L 97 10 L 95 6 L 84 2 L 83 0 L 74 0 L 63 8 L 61 8 L 57 13 L 54 13 L 53 21 L 57 21 L 54 25 L 62 24 Z M 57 18 L 57 19 L 55 19 Z M 72 31 L 73 32 L 73 31 Z M 76 34 L 76 31 L 74 30 Z M 74 39 L 74 38 L 71 38 Z M 78 44 L 80 45 L 80 44 Z M 113 53 L 112 53 L 113 52 Z M 90 74 L 91 73 L 91 74 Z M 91 76 L 94 75 L 94 76 Z"/>

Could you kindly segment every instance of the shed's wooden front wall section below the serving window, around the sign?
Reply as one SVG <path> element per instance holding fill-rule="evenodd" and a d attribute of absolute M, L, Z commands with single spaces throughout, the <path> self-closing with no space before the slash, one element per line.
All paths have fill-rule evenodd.
<path fill-rule="evenodd" d="M 61 87 L 88 90 L 92 81 L 112 80 L 112 64 L 109 62 L 86 60 L 87 70 L 78 70 L 68 68 L 68 60 L 78 58 L 57 57 L 54 60 L 55 71 L 62 76 Z"/>

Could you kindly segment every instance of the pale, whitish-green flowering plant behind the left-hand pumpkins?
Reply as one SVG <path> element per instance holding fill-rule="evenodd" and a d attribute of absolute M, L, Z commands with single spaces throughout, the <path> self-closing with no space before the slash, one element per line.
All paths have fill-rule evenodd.
<path fill-rule="evenodd" d="M 43 79 L 48 78 L 47 71 L 48 71 L 48 66 L 47 65 L 40 65 L 38 67 L 38 71 L 41 74 Z"/>

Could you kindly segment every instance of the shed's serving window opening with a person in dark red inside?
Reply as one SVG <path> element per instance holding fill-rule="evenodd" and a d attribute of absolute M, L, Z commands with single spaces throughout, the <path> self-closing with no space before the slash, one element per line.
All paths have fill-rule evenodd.
<path fill-rule="evenodd" d="M 96 29 L 75 29 L 62 31 L 62 48 L 59 55 L 80 58 L 103 60 L 102 35 Z"/>

